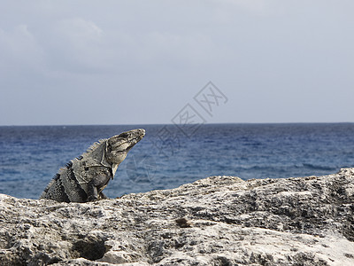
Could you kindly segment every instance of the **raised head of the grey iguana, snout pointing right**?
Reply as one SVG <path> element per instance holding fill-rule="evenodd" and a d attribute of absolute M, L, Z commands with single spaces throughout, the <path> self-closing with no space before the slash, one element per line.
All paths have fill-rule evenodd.
<path fill-rule="evenodd" d="M 119 165 L 127 157 L 127 152 L 134 147 L 142 137 L 145 129 L 133 129 L 107 139 L 105 157 L 112 165 Z"/>

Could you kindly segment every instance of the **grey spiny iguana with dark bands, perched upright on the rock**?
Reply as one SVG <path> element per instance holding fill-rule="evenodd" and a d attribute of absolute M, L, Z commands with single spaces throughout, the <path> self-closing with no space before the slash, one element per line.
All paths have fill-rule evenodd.
<path fill-rule="evenodd" d="M 86 153 L 59 169 L 40 199 L 64 202 L 108 199 L 102 191 L 127 152 L 144 136 L 144 129 L 133 129 L 91 145 Z"/>

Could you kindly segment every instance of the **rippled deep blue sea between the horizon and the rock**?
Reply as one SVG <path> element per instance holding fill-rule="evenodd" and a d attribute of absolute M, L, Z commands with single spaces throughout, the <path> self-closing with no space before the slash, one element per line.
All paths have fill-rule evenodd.
<path fill-rule="evenodd" d="M 136 128 L 146 136 L 104 190 L 111 198 L 214 175 L 279 178 L 354 167 L 354 123 L 0 127 L 0 193 L 37 199 L 68 160 Z"/>

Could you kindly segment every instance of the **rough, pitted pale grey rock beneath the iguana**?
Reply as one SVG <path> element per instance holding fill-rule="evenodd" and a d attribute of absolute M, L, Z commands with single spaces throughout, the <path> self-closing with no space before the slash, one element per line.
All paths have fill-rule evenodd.
<path fill-rule="evenodd" d="M 0 265 L 354 265 L 354 168 L 116 200 L 0 195 Z"/>

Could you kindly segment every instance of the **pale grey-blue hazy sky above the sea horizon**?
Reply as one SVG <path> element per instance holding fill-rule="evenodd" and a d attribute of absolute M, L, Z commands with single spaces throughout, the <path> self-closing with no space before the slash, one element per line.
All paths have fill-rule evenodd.
<path fill-rule="evenodd" d="M 354 121 L 352 0 L 0 4 L 0 125 Z"/>

